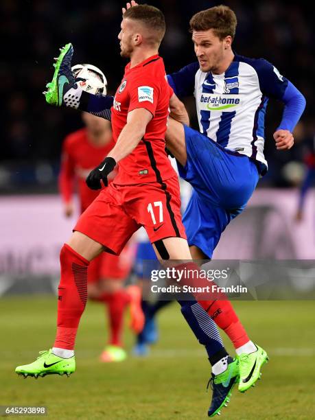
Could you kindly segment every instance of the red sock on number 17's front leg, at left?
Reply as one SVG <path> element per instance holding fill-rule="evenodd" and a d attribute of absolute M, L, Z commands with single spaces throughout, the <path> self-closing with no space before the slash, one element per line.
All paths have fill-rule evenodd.
<path fill-rule="evenodd" d="M 87 261 L 65 244 L 60 251 L 57 334 L 54 347 L 73 350 L 87 299 Z"/>

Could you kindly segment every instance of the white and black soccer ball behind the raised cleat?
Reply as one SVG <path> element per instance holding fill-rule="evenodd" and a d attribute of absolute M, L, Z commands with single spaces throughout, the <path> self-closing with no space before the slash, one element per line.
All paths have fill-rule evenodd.
<path fill-rule="evenodd" d="M 71 68 L 75 78 L 80 78 L 81 89 L 93 95 L 106 95 L 107 80 L 104 73 L 93 65 L 82 64 Z"/>

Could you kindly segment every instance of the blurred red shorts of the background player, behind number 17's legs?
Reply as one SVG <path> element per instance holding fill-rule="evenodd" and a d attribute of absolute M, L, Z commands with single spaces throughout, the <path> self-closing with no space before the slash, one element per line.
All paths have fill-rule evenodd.
<path fill-rule="evenodd" d="M 119 256 L 102 253 L 90 262 L 88 282 L 95 283 L 100 279 L 124 280 L 130 274 L 134 259 L 134 244 L 127 244 Z"/>

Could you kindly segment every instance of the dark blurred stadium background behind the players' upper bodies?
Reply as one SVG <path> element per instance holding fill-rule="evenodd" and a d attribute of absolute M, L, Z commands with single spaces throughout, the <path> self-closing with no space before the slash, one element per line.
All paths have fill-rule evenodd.
<path fill-rule="evenodd" d="M 167 32 L 161 47 L 167 72 L 195 60 L 189 18 L 220 1 L 151 1 L 165 13 Z M 281 119 L 281 104 L 270 101 L 266 119 L 268 175 L 259 186 L 290 187 L 299 183 L 303 156 L 313 148 L 314 7 L 306 2 L 226 1 L 238 19 L 234 49 L 264 57 L 290 79 L 307 99 L 296 130 L 296 145 L 277 152 L 272 133 Z M 54 192 L 62 139 L 82 126 L 80 115 L 52 108 L 42 91 L 53 74 L 58 48 L 71 42 L 73 64 L 90 62 L 108 78 L 110 93 L 121 81 L 126 61 L 119 56 L 117 34 L 123 2 L 82 0 L 2 0 L 1 13 L 1 154 L 0 193 Z M 191 102 L 190 102 L 191 104 Z M 189 106 L 189 109 L 191 107 Z M 194 113 L 191 114 L 194 121 Z M 283 167 L 297 162 L 290 170 Z M 297 171 L 297 173 L 296 173 Z"/>

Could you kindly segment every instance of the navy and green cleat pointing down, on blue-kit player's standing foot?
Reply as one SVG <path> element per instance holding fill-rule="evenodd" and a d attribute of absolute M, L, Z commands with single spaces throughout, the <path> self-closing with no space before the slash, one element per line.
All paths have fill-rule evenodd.
<path fill-rule="evenodd" d="M 219 375 L 213 375 L 213 373 L 211 373 L 208 386 L 209 384 L 211 385 L 213 393 L 211 405 L 208 410 L 208 417 L 220 415 L 220 410 L 227 406 L 230 401 L 233 386 L 235 386 L 239 380 L 239 375 L 240 369 L 238 359 L 233 360 L 230 357 L 228 359 L 226 371 Z"/>

